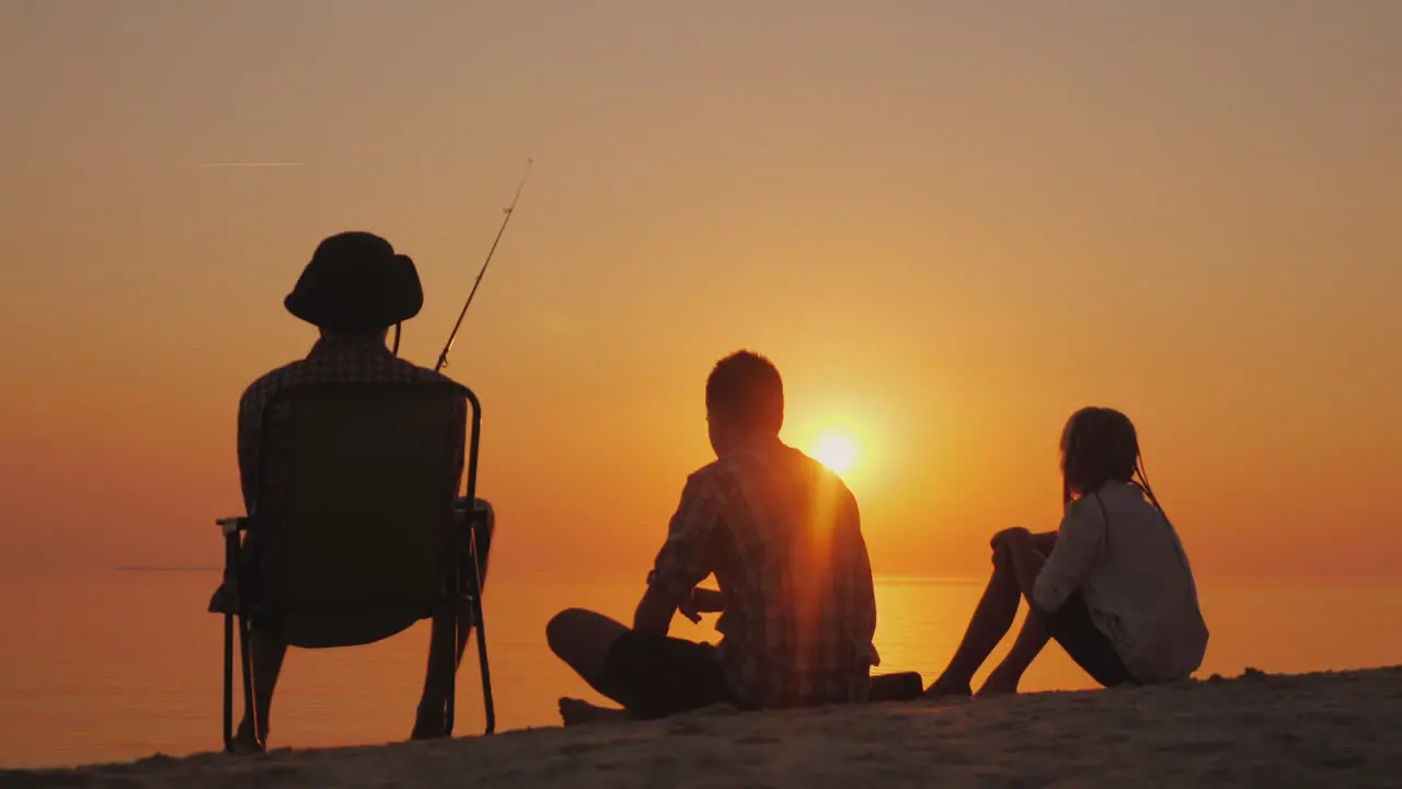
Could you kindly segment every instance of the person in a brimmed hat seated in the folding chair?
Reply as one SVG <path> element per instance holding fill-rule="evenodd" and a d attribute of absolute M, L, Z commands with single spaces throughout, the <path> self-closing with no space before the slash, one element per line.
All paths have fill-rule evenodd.
<path fill-rule="evenodd" d="M 423 291 L 414 261 L 395 254 L 394 247 L 379 236 L 348 232 L 322 240 L 283 303 L 293 316 L 320 329 L 321 336 L 306 358 L 264 375 L 248 386 L 238 403 L 238 470 L 244 505 L 250 514 L 259 505 L 258 491 L 262 490 L 269 498 L 276 497 L 279 486 L 285 483 L 282 477 L 287 473 L 283 468 L 286 458 L 278 452 L 269 452 L 272 456 L 268 458 L 258 456 L 261 446 L 278 448 L 286 444 L 279 441 L 279 427 L 286 431 L 286 409 L 273 407 L 265 414 L 279 392 L 308 383 L 449 380 L 437 372 L 397 357 L 398 324 L 418 314 L 423 305 Z M 390 327 L 395 329 L 395 351 L 386 345 Z M 456 434 L 458 448 L 463 446 L 465 414 L 465 404 L 458 402 L 451 410 L 453 424 L 447 425 L 447 430 Z M 269 435 L 272 442 L 266 444 Z M 456 490 L 463 475 L 461 452 L 457 455 L 453 475 Z M 472 518 L 478 571 L 485 581 L 494 528 L 491 504 L 478 498 L 471 507 L 472 514 L 468 515 L 467 503 L 458 498 L 454 511 L 458 522 L 463 518 Z M 241 564 L 245 569 L 252 567 L 255 576 L 259 566 L 259 536 L 251 531 L 244 538 L 241 549 Z M 458 560 L 470 557 L 460 556 Z M 237 576 L 238 573 L 226 569 L 224 583 L 215 591 L 209 611 L 219 614 L 238 611 Z M 442 611 L 433 615 L 428 672 L 411 734 L 414 738 L 446 734 L 444 706 L 450 675 L 444 663 L 453 661 L 451 671 L 456 672 L 472 622 L 471 611 L 461 604 L 457 605 L 457 618 L 458 623 L 454 628 L 451 615 Z M 454 629 L 458 632 L 456 649 Z M 255 621 L 250 653 L 258 730 L 254 731 L 250 722 L 251 710 L 245 709 L 234 737 L 237 750 L 261 750 L 268 741 L 268 713 L 286 644 L 279 642 L 275 633 L 261 629 Z"/>

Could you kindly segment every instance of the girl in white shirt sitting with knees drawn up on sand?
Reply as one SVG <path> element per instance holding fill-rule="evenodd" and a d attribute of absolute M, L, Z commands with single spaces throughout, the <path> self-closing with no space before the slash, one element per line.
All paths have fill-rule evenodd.
<path fill-rule="evenodd" d="M 970 694 L 1023 597 L 1022 630 L 979 695 L 1015 694 L 1049 639 L 1108 688 L 1182 679 L 1202 664 L 1207 625 L 1193 571 L 1144 476 L 1130 420 L 1112 409 L 1073 414 L 1061 431 L 1061 480 L 1056 532 L 994 535 L 993 577 L 927 696 Z"/>

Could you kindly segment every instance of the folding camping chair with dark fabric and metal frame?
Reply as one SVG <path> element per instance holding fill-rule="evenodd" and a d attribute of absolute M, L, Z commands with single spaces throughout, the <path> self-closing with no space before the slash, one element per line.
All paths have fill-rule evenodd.
<path fill-rule="evenodd" d="M 454 518 L 453 468 L 464 446 L 449 430 L 451 409 L 471 406 L 467 431 L 465 518 Z M 268 486 L 269 417 L 282 410 L 285 462 L 278 494 Z M 481 404 L 451 382 L 318 383 L 279 393 L 264 411 L 259 504 L 244 518 L 217 521 L 224 562 L 237 573 L 237 611 L 224 614 L 224 745 L 233 750 L 233 630 L 238 625 L 244 709 L 257 715 L 251 629 L 287 646 L 359 646 L 401 633 L 447 611 L 460 639 L 457 608 L 465 602 L 477 629 L 486 733 L 496 726 L 486 639 L 482 632 L 477 548 L 477 458 Z M 255 550 L 244 550 L 257 535 Z M 471 562 L 458 560 L 468 550 Z M 456 653 L 454 653 L 456 658 Z M 444 723 L 453 731 L 456 660 L 447 661 Z M 258 731 L 255 723 L 255 731 Z"/>

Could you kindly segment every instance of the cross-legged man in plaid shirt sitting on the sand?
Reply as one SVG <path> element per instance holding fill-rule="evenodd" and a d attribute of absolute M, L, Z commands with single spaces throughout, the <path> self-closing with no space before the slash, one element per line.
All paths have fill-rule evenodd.
<path fill-rule="evenodd" d="M 876 604 L 857 500 L 780 439 L 784 386 L 768 359 L 721 359 L 705 403 L 716 460 L 687 477 L 632 628 L 569 609 L 545 629 L 551 650 L 624 708 L 561 699 L 565 724 L 869 695 Z M 719 590 L 697 587 L 712 573 Z M 694 622 L 722 612 L 721 643 L 669 637 L 677 611 Z"/>

